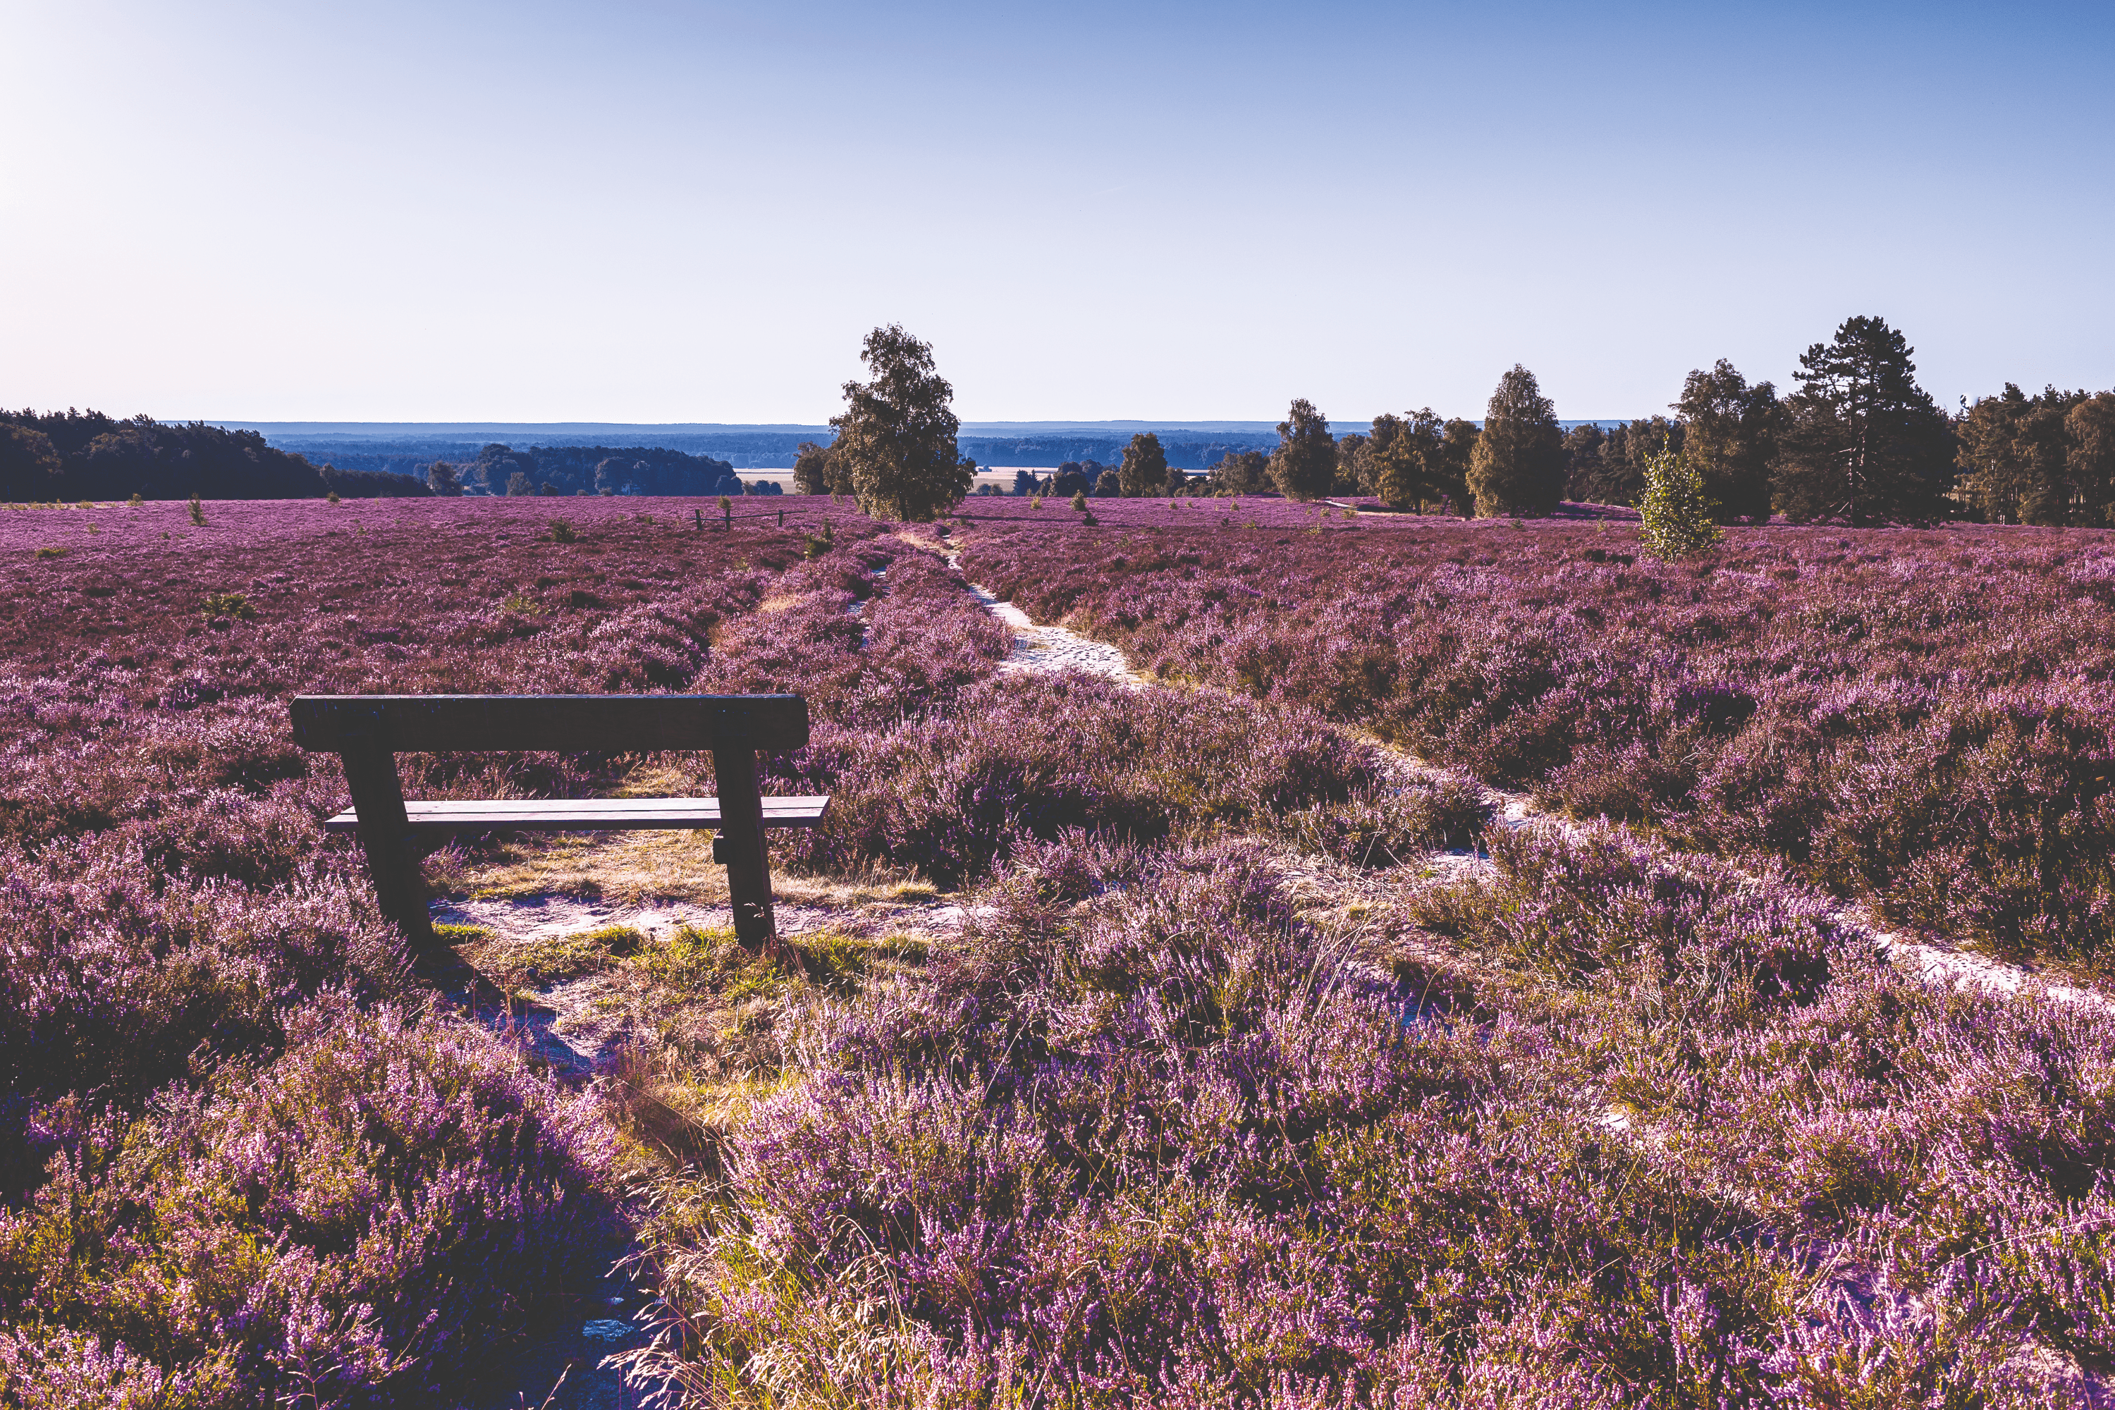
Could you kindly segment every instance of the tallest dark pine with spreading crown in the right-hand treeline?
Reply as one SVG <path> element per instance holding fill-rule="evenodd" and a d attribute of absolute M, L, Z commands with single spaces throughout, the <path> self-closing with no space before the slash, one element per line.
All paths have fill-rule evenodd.
<path fill-rule="evenodd" d="M 1787 518 L 1918 524 L 1942 514 L 1952 429 L 1916 385 L 1912 351 L 1887 319 L 1853 317 L 1800 357 L 1777 459 Z"/>

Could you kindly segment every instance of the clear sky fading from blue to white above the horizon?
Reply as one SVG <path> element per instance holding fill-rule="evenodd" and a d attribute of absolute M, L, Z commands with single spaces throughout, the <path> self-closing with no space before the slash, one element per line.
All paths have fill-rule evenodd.
<path fill-rule="evenodd" d="M 1853 313 L 2115 385 L 2109 4 L 0 0 L 0 404 L 1665 408 Z"/>

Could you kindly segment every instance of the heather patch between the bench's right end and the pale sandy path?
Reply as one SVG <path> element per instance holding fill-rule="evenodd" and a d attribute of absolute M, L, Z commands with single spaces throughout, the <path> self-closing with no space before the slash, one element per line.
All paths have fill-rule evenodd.
<path fill-rule="evenodd" d="M 880 567 L 882 550 L 865 562 Z M 1087 676 L 994 679 L 1011 632 L 928 556 L 886 560 L 886 596 L 842 554 L 780 575 L 719 638 L 702 689 L 797 691 L 812 744 L 772 761 L 780 791 L 831 795 L 823 827 L 774 837 L 783 862 L 890 862 L 941 886 L 981 877 L 1015 839 L 1288 831 L 1392 865 L 1487 820 L 1466 789 L 1400 789 L 1381 755 L 1311 710 L 1220 691 L 1127 691 Z M 865 600 L 861 615 L 850 615 Z M 1258 731 L 1271 740 L 1256 748 Z M 698 767 L 702 761 L 692 761 Z"/>

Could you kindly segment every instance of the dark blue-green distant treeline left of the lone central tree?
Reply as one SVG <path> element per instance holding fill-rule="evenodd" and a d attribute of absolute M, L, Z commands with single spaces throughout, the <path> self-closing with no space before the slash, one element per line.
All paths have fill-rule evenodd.
<path fill-rule="evenodd" d="M 421 495 L 768 495 L 728 461 L 647 446 L 486 446 L 415 474 L 313 465 L 256 431 L 102 412 L 0 410 L 0 501 L 379 499 Z"/>

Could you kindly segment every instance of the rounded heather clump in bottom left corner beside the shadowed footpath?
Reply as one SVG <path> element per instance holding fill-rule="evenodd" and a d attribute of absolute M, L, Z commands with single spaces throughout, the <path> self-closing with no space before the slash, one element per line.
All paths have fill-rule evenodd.
<path fill-rule="evenodd" d="M 286 1042 L 80 1123 L 0 1209 L 0 1399 L 438 1395 L 603 1245 L 609 1127 L 512 1044 L 343 996 Z"/>

